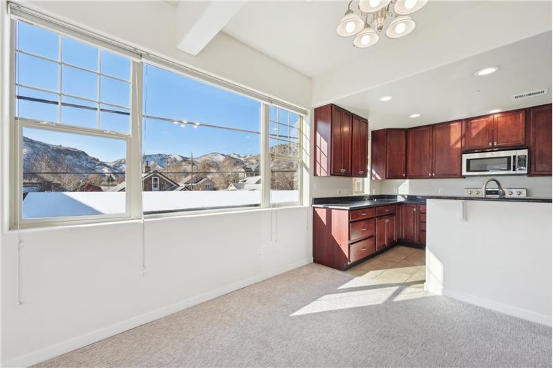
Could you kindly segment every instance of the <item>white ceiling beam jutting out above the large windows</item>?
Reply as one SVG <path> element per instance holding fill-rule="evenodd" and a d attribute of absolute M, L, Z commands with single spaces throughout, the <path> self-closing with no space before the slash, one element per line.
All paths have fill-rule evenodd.
<path fill-rule="evenodd" d="M 181 1 L 176 17 L 176 46 L 196 56 L 246 1 Z"/>

